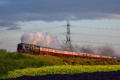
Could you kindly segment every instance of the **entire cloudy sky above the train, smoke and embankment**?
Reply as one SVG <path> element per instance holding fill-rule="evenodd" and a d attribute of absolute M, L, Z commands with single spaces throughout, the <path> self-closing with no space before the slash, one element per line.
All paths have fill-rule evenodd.
<path fill-rule="evenodd" d="M 16 51 L 25 32 L 47 32 L 72 43 L 120 48 L 120 0 L 0 0 L 0 49 Z"/>

